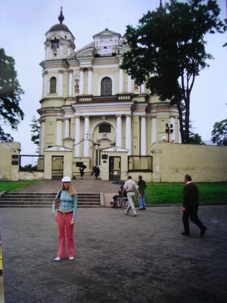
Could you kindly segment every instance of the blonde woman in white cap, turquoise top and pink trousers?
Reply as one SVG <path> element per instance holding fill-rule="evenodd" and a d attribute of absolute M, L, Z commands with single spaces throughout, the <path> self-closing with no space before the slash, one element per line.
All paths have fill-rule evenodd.
<path fill-rule="evenodd" d="M 54 259 L 60 261 L 65 257 L 65 229 L 68 243 L 68 257 L 69 260 L 74 260 L 74 240 L 73 240 L 73 227 L 75 225 L 77 213 L 77 193 L 72 185 L 70 177 L 62 179 L 63 187 L 60 195 L 61 204 L 59 210 L 55 209 L 53 201 L 52 214 L 58 223 L 59 228 L 59 249 L 58 256 Z M 60 191 L 56 195 L 58 197 Z"/>

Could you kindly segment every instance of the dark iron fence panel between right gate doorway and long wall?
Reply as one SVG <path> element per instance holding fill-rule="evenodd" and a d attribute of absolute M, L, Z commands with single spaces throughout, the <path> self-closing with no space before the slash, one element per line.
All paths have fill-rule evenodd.
<path fill-rule="evenodd" d="M 128 171 L 152 172 L 151 156 L 128 156 Z"/>

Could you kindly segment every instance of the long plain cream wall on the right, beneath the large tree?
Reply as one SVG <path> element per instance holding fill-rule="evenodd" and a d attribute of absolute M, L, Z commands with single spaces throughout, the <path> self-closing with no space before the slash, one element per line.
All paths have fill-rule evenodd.
<path fill-rule="evenodd" d="M 227 181 L 227 146 L 160 142 L 152 145 L 153 182 Z"/>

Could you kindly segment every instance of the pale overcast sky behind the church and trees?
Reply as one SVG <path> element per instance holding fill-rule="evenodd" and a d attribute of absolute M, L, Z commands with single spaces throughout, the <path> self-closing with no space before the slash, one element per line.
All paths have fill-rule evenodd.
<path fill-rule="evenodd" d="M 162 0 L 162 3 L 165 1 Z M 226 18 L 226 0 L 218 0 L 220 17 Z M 32 155 L 36 145 L 31 142 L 32 116 L 40 108 L 45 33 L 58 24 L 63 5 L 64 24 L 75 37 L 76 50 L 93 41 L 92 36 L 105 28 L 124 35 L 126 25 L 138 25 L 148 10 L 159 6 L 159 0 L 1 0 L 0 47 L 15 61 L 18 80 L 25 90 L 20 108 L 25 117 L 18 131 L 7 128 L 15 141 L 21 142 L 22 155 Z M 196 77 L 191 95 L 191 115 L 194 132 L 209 140 L 216 121 L 226 119 L 227 60 L 226 34 L 207 35 L 206 50 L 213 55 L 210 68 Z"/>

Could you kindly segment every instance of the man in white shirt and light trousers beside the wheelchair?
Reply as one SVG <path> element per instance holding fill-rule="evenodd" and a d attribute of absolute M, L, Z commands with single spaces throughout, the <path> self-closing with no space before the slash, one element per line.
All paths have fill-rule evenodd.
<path fill-rule="evenodd" d="M 137 216 L 136 210 L 135 210 L 135 206 L 134 206 L 134 202 L 133 202 L 133 198 L 135 196 L 135 191 L 137 191 L 138 196 L 140 197 L 140 192 L 138 190 L 139 186 L 136 184 L 136 182 L 134 182 L 132 180 L 131 176 L 127 177 L 127 181 L 125 182 L 124 186 L 123 186 L 123 191 L 122 191 L 122 196 L 124 195 L 124 192 L 127 192 L 127 198 L 129 201 L 128 204 L 128 208 L 125 211 L 125 214 L 128 215 L 129 214 L 129 210 L 131 208 L 132 212 L 133 212 L 133 217 Z"/>

